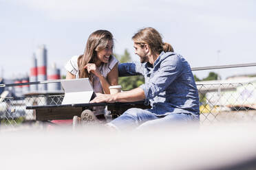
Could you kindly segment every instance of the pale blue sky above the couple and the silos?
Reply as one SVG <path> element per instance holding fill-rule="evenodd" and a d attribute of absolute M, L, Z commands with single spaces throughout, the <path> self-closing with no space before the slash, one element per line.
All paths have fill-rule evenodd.
<path fill-rule="evenodd" d="M 255 9 L 253 0 L 0 0 L 0 73 L 29 73 L 32 53 L 45 44 L 48 65 L 56 62 L 65 74 L 65 62 L 83 53 L 96 29 L 112 32 L 115 53 L 128 49 L 136 61 L 131 36 L 142 27 L 158 29 L 191 67 L 256 62 Z M 225 78 L 255 70 L 215 72 Z M 194 73 L 206 77 L 209 71 Z"/>

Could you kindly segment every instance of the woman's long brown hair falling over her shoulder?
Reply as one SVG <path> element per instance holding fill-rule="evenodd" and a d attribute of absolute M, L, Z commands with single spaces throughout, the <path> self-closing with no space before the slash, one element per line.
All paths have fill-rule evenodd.
<path fill-rule="evenodd" d="M 97 30 L 89 36 L 85 46 L 85 52 L 78 57 L 79 78 L 89 77 L 89 80 L 93 82 L 92 73 L 88 73 L 84 67 L 88 63 L 96 63 L 98 60 L 97 51 L 105 49 L 109 40 L 113 40 L 113 36 L 107 30 Z"/>

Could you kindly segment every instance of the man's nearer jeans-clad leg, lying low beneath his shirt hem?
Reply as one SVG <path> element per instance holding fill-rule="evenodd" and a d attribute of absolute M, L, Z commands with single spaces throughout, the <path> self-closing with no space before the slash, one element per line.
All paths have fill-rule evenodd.
<path fill-rule="evenodd" d="M 138 130 L 145 130 L 145 129 L 151 129 L 156 127 L 168 127 L 171 125 L 180 125 L 180 124 L 188 124 L 188 123 L 195 123 L 199 125 L 199 119 L 193 117 L 191 114 L 167 114 L 165 117 L 147 121 L 145 123 L 142 123 L 139 127 L 137 127 Z"/>

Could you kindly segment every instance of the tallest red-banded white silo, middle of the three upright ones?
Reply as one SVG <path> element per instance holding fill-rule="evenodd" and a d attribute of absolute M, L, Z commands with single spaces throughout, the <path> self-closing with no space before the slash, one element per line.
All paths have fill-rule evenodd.
<path fill-rule="evenodd" d="M 41 45 L 36 50 L 37 57 L 37 80 L 39 82 L 47 80 L 47 50 L 45 49 L 45 45 Z M 39 84 L 39 91 L 47 90 L 47 84 Z"/>

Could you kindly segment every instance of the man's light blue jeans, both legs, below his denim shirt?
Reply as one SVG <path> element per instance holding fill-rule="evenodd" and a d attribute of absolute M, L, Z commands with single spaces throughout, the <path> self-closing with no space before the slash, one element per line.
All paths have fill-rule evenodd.
<path fill-rule="evenodd" d="M 147 129 L 151 127 L 166 127 L 175 123 L 198 122 L 199 117 L 191 114 L 175 114 L 170 113 L 166 116 L 158 117 L 153 114 L 151 109 L 130 108 L 120 117 L 114 119 L 108 125 L 116 127 L 118 130 L 128 130 L 134 127 L 138 129 Z"/>

